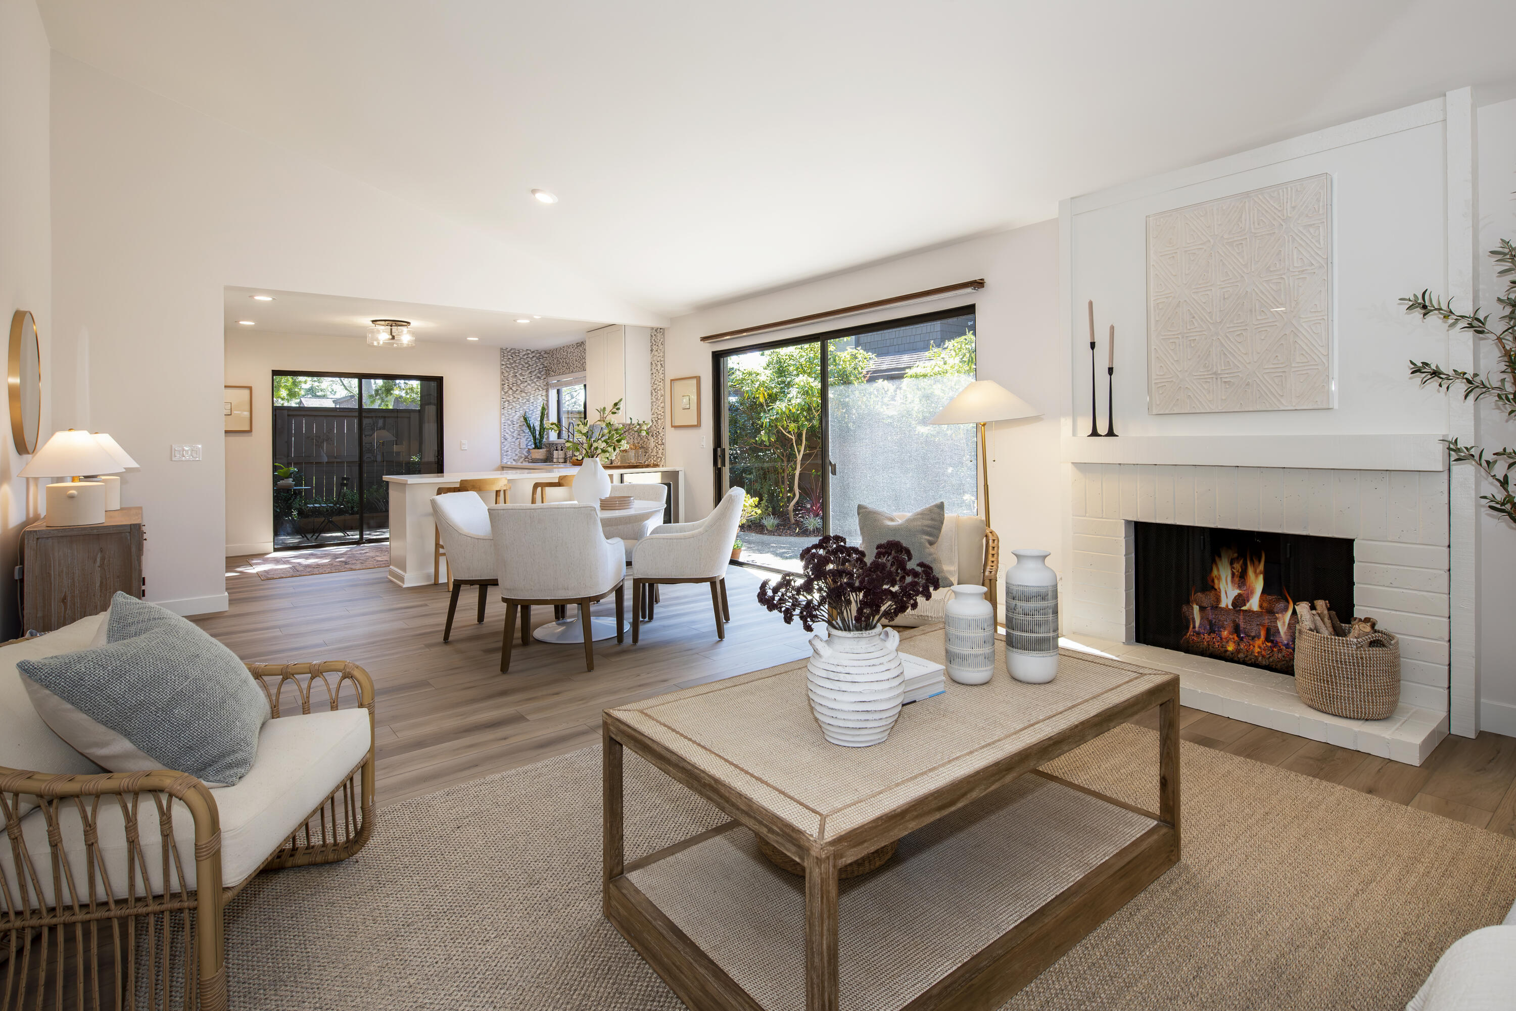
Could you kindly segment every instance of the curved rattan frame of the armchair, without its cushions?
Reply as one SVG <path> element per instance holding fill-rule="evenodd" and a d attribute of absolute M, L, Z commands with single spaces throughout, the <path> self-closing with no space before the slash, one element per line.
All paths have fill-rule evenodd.
<path fill-rule="evenodd" d="M 215 796 L 194 776 L 0 767 L 0 814 L 8 835 L 0 853 L 12 875 L 0 875 L 0 1009 L 221 1011 L 227 1006 L 226 903 L 262 870 L 341 861 L 368 841 L 374 690 L 367 671 L 347 662 L 247 664 L 247 670 L 267 694 L 274 718 L 311 712 L 312 705 L 367 709 L 367 756 L 258 872 L 233 887 L 221 884 Z M 36 806 L 47 823 L 47 852 L 29 850 L 23 834 L 23 819 Z M 193 852 L 183 846 L 186 834 L 174 831 L 182 811 L 194 823 Z M 126 875 L 112 879 L 111 864 L 120 858 L 106 855 L 103 837 L 123 831 Z"/>

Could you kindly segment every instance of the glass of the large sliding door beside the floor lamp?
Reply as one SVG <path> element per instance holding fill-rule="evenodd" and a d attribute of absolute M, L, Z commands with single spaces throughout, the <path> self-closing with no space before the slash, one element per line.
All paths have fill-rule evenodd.
<path fill-rule="evenodd" d="M 793 570 L 858 506 L 978 511 L 972 424 L 929 418 L 973 382 L 973 306 L 717 352 L 717 493 L 747 493 L 741 561 Z"/>

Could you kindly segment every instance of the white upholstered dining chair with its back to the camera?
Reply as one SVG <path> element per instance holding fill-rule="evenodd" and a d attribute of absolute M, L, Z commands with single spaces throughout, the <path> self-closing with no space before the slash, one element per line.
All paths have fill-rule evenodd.
<path fill-rule="evenodd" d="M 522 646 L 531 643 L 534 603 L 579 605 L 584 667 L 594 670 L 591 603 L 615 593 L 615 641 L 625 641 L 626 549 L 622 541 L 605 538 L 600 512 L 593 505 L 497 505 L 488 509 L 496 579 L 505 602 L 500 670 L 511 668 L 517 612 L 522 615 Z"/>

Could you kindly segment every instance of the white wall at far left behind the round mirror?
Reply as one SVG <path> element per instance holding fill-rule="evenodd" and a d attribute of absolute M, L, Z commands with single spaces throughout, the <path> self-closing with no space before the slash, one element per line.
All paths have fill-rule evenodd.
<path fill-rule="evenodd" d="M 29 309 L 41 340 L 44 382 L 53 374 L 53 238 L 49 202 L 47 35 L 33 0 L 0 0 L 0 341 L 11 315 Z M 44 388 L 41 438 L 52 432 L 53 402 Z M 41 482 L 17 477 L 27 456 L 15 452 L 11 411 L 0 406 L 0 637 L 20 629 L 15 581 L 20 532 L 39 514 Z M 27 487 L 30 485 L 30 487 Z"/>

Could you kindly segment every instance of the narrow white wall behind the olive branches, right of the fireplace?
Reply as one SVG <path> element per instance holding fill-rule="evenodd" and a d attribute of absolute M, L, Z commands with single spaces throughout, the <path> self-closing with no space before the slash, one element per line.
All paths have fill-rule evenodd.
<path fill-rule="evenodd" d="M 1516 243 L 1516 100 L 1487 105 L 1477 117 L 1478 161 L 1478 300 L 1492 317 L 1499 315 L 1495 299 L 1505 293 L 1510 277 L 1496 277 L 1495 264 L 1484 256 L 1499 239 Z M 1499 353 L 1480 341 L 1478 368 L 1499 376 Z M 1478 444 L 1487 450 L 1516 446 L 1516 424 L 1493 403 L 1477 414 Z M 1483 477 L 1478 494 L 1495 491 Z M 1516 526 L 1486 511 L 1480 503 L 1480 728 L 1516 737 Z"/>

